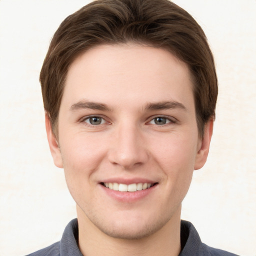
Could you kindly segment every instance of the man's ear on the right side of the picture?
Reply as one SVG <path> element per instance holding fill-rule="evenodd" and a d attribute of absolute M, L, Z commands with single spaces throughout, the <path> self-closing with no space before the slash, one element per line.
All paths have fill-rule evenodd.
<path fill-rule="evenodd" d="M 203 138 L 198 143 L 198 151 L 196 153 L 194 169 L 200 169 L 206 162 L 210 140 L 213 130 L 213 119 L 211 118 L 204 126 Z"/>

